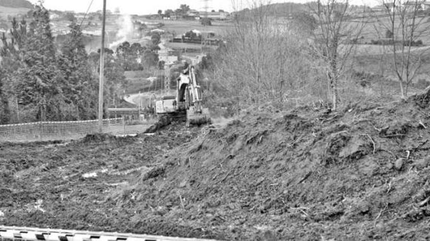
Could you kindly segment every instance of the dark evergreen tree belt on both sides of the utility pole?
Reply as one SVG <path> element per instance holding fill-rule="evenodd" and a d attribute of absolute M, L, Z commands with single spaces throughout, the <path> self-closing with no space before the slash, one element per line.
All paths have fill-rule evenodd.
<path fill-rule="evenodd" d="M 96 118 L 100 50 L 86 52 L 75 19 L 56 44 L 43 5 L 35 5 L 26 19 L 12 19 L 12 28 L 1 36 L 0 124 Z M 106 49 L 105 108 L 122 99 L 125 71 L 158 66 L 159 43 L 154 34 L 148 46 L 123 42 Z"/>

